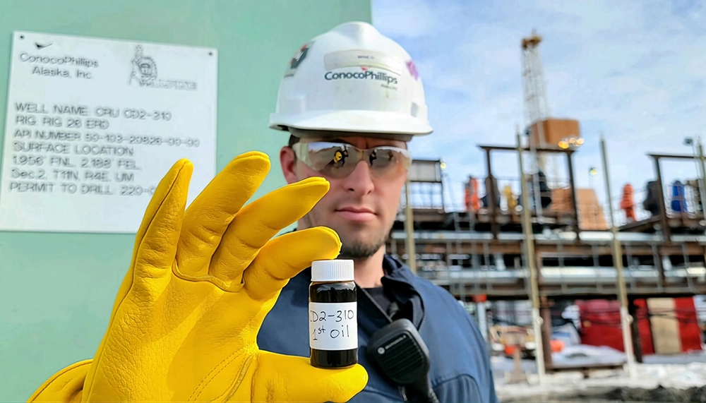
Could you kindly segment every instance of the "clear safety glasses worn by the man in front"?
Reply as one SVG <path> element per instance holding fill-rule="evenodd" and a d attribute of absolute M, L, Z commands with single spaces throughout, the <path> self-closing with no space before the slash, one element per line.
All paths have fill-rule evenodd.
<path fill-rule="evenodd" d="M 323 176 L 345 178 L 358 163 L 365 161 L 373 176 L 394 178 L 403 174 L 412 164 L 412 154 L 404 148 L 388 145 L 361 150 L 346 143 L 295 143 L 297 159 Z"/>

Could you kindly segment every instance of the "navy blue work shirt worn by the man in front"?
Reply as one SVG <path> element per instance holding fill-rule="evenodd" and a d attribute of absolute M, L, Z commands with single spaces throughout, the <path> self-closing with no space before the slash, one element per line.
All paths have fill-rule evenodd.
<path fill-rule="evenodd" d="M 498 402 L 486 344 L 462 306 L 448 291 L 415 276 L 409 267 L 385 255 L 383 287 L 407 311 L 429 348 L 429 379 L 440 402 Z M 266 351 L 309 357 L 309 284 L 306 269 L 289 280 L 277 303 L 265 317 L 258 346 Z M 404 402 L 402 390 L 388 382 L 366 357 L 371 335 L 386 325 L 382 313 L 358 292 L 359 363 L 368 384 L 350 402 Z M 287 332 L 282 332 L 287 329 Z"/>

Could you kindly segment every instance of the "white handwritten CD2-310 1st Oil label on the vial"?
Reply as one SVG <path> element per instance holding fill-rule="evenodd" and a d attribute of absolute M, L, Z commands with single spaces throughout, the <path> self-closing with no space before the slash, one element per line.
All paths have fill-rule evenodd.
<path fill-rule="evenodd" d="M 357 303 L 309 303 L 309 346 L 317 350 L 358 348 Z"/>

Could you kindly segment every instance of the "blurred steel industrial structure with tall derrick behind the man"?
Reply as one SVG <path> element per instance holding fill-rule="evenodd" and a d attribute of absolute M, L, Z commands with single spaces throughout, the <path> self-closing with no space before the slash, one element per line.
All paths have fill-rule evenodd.
<path fill-rule="evenodd" d="M 584 335 L 593 331 L 587 329 L 592 321 L 594 329 L 600 329 L 602 321 L 611 323 L 611 343 L 626 351 L 628 370 L 643 354 L 695 349 L 686 341 L 674 345 L 674 339 L 680 339 L 674 323 L 680 315 L 694 321 L 693 305 L 680 308 L 683 299 L 706 295 L 706 217 L 701 203 L 706 157 L 700 143 L 694 155 L 647 155 L 654 162 L 654 181 L 644 192 L 626 186 L 616 201 L 601 139 L 609 196 L 604 209 L 594 189 L 575 186 L 573 157 L 584 140 L 578 121 L 549 115 L 540 42 L 535 32 L 522 40 L 526 121 L 517 143 L 477 145 L 485 156 L 486 175 L 469 178 L 462 210 L 446 207 L 443 162 L 415 161 L 402 200 L 405 210 L 388 238 L 388 253 L 406 260 L 418 275 L 448 289 L 459 301 L 474 303 L 470 306 L 484 336 L 491 333 L 488 321 L 493 320 L 485 311 L 488 306 L 495 310 L 495 320 L 503 317 L 534 329 L 532 334 L 541 335 L 542 341 L 536 346 L 540 382 L 545 371 L 566 369 L 552 362 L 551 341 L 553 323 L 561 325 L 562 309 L 570 305 L 582 310 L 579 325 L 585 327 Z M 517 157 L 516 179 L 493 174 L 492 158 L 501 152 Z M 666 159 L 693 160 L 699 172 L 665 186 L 660 162 Z M 568 183 L 547 178 L 548 161 L 566 174 Z M 635 200 L 637 194 L 643 199 Z M 527 301 L 527 312 L 521 313 L 525 318 L 517 318 L 513 301 Z M 596 311 L 596 306 L 602 308 Z M 665 316 L 672 319 L 671 325 L 655 325 Z"/>

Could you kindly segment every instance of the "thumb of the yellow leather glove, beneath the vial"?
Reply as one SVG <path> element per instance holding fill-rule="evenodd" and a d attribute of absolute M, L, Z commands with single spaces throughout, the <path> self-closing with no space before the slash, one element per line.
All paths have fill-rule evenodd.
<path fill-rule="evenodd" d="M 368 383 L 360 365 L 311 366 L 308 358 L 261 351 L 253 379 L 253 402 L 348 402 Z"/>

